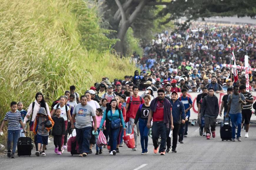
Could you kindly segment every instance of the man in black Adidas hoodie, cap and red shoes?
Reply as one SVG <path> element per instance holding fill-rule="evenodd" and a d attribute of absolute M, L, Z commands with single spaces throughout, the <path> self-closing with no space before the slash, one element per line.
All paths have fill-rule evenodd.
<path fill-rule="evenodd" d="M 201 105 L 201 117 L 205 117 L 206 139 L 210 139 L 211 131 L 212 137 L 215 138 L 216 119 L 220 112 L 218 98 L 213 93 L 214 89 L 210 87 L 209 94 L 204 97 Z"/>

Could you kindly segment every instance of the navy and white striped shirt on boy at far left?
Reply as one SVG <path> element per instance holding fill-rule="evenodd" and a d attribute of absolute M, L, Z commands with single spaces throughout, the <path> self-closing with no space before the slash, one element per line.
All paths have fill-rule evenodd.
<path fill-rule="evenodd" d="M 4 120 L 8 120 L 8 130 L 20 130 L 19 121 L 22 121 L 20 112 L 7 112 L 4 116 Z"/>

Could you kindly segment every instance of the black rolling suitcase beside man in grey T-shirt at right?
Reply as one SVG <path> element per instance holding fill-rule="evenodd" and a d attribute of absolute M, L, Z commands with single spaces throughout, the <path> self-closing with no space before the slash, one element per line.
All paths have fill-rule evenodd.
<path fill-rule="evenodd" d="M 232 123 L 230 116 L 224 116 L 224 121 L 220 123 L 220 137 L 222 141 L 232 140 Z"/>

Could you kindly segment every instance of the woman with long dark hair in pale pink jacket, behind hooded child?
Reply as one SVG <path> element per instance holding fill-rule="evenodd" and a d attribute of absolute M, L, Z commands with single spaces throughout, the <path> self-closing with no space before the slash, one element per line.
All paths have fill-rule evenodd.
<path fill-rule="evenodd" d="M 35 121 L 36 115 L 37 115 L 40 108 L 45 108 L 46 113 L 49 116 L 51 116 L 49 106 L 44 100 L 44 95 L 40 92 L 37 92 L 35 98 L 36 98 L 35 101 L 30 103 L 29 108 L 28 108 L 28 113 L 27 113 L 27 115 L 25 116 L 25 118 L 23 120 L 23 123 L 24 123 L 24 126 L 25 126 L 26 122 L 29 120 L 29 117 L 30 117 L 29 131 L 32 131 L 32 132 L 33 132 L 33 129 L 34 129 L 34 121 Z M 36 150 L 37 150 L 37 135 L 34 136 L 34 143 L 36 145 Z"/>

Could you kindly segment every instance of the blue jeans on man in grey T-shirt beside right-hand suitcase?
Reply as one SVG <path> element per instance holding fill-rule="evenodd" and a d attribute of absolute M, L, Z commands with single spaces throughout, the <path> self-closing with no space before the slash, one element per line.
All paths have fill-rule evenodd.
<path fill-rule="evenodd" d="M 241 125 L 242 125 L 242 113 L 229 114 L 232 122 L 232 139 L 236 136 L 236 125 L 237 125 L 237 137 L 241 135 Z"/>

